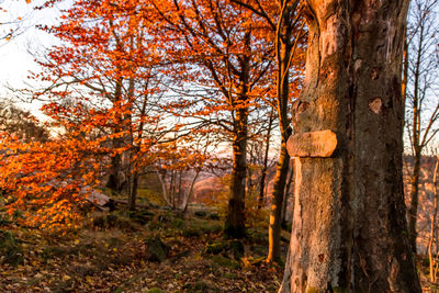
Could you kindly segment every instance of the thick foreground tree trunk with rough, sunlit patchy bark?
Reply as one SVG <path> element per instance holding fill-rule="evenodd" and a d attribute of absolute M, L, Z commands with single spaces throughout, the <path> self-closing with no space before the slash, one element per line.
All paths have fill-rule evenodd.
<path fill-rule="evenodd" d="M 295 202 L 280 292 L 420 292 L 402 177 L 407 9 L 304 1 L 308 56 L 289 142 Z M 324 129 L 336 144 L 315 133 Z"/>

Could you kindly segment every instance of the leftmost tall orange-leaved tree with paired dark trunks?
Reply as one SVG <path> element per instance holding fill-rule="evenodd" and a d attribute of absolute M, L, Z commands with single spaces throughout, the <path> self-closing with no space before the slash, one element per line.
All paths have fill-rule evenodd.
<path fill-rule="evenodd" d="M 172 123 L 159 115 L 164 75 L 160 54 L 148 41 L 147 22 L 132 12 L 138 3 L 125 1 L 77 1 L 65 11 L 63 22 L 43 27 L 63 45 L 40 59 L 44 71 L 34 77 L 48 86 L 34 97 L 49 98 L 54 106 L 81 104 L 93 110 L 90 129 L 106 137 L 110 146 L 108 185 L 128 194 L 128 207 L 135 209 L 138 179 L 145 166 L 154 164 L 154 147 L 165 139 Z M 144 11 L 144 13 L 147 13 Z M 81 121 L 76 112 L 71 120 Z"/>

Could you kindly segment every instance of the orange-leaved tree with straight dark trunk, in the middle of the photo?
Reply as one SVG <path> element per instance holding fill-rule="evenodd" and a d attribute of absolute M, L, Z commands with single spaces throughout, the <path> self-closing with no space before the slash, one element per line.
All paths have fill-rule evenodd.
<path fill-rule="evenodd" d="M 270 90 L 267 81 L 271 79 L 272 49 L 266 26 L 227 1 L 153 3 L 165 23 L 160 42 L 167 45 L 169 58 L 183 65 L 177 67 L 182 84 L 196 89 L 195 94 L 181 94 L 170 106 L 183 110 L 183 116 L 199 120 L 204 128 L 224 134 L 232 143 L 232 194 L 225 233 L 243 237 L 248 125 L 251 111 Z"/>

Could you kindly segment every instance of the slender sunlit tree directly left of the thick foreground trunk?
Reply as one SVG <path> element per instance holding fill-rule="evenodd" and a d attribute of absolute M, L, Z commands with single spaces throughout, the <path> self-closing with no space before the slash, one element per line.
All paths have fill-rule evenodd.
<path fill-rule="evenodd" d="M 304 31 L 302 31 L 303 26 L 301 25 L 301 15 L 297 13 L 300 1 L 232 1 L 246 8 L 267 23 L 271 30 L 271 41 L 275 52 L 277 101 L 274 108 L 277 109 L 279 119 L 281 148 L 274 178 L 273 202 L 271 205 L 269 226 L 269 253 L 267 259 L 268 261 L 279 261 L 282 201 L 290 165 L 290 156 L 286 151 L 286 140 L 291 134 L 290 119 L 288 115 L 291 104 L 290 88 L 297 90 L 301 83 L 301 69 L 294 66 L 294 64 L 301 64 L 301 58 L 296 56 L 301 54 L 296 54 L 296 52 L 300 52 L 297 48 L 302 46 L 301 42 L 303 42 L 302 38 L 304 36 Z M 290 77 L 292 67 L 294 67 L 293 78 Z"/>

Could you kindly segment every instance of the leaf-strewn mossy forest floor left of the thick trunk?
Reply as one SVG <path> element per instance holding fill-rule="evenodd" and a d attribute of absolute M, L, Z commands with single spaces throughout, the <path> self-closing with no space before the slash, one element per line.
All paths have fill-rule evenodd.
<path fill-rule="evenodd" d="M 267 227 L 222 238 L 215 213 L 95 213 L 66 235 L 0 223 L 0 292 L 277 292 Z M 285 239 L 289 239 L 288 233 Z M 282 243 L 283 253 L 286 243 Z"/>

